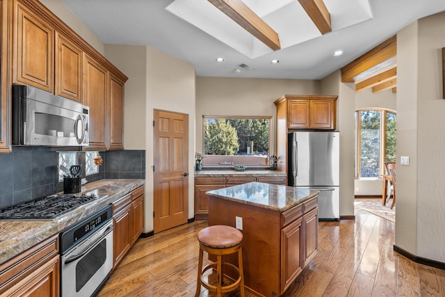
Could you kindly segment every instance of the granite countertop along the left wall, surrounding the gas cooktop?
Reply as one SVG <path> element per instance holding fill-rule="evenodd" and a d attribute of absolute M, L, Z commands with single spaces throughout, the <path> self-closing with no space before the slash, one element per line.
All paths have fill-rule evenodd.
<path fill-rule="evenodd" d="M 58 234 L 127 193 L 145 184 L 145 179 L 102 179 L 82 186 L 81 193 L 95 193 L 88 202 L 55 220 L 0 220 L 0 264 Z M 103 195 L 106 197 L 101 198 Z"/>

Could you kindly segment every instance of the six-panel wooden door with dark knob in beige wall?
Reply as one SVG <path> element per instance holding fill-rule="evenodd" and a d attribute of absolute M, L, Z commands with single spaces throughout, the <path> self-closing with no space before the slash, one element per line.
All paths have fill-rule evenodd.
<path fill-rule="evenodd" d="M 187 223 L 188 115 L 154 111 L 154 233 Z"/>

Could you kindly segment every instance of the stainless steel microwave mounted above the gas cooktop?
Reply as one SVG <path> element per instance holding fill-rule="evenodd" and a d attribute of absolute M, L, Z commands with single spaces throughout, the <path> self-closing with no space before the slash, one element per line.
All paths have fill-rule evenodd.
<path fill-rule="evenodd" d="M 89 109 L 32 86 L 13 85 L 13 145 L 88 145 Z"/>

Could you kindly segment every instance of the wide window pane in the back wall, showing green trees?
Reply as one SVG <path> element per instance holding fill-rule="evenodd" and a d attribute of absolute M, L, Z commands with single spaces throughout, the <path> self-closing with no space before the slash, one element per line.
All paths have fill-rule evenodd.
<path fill-rule="evenodd" d="M 270 117 L 204 116 L 204 162 L 207 167 L 268 166 Z"/>

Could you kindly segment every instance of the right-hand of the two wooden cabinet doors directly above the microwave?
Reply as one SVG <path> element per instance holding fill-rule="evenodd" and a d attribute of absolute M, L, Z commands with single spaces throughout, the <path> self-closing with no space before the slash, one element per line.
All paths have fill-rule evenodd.
<path fill-rule="evenodd" d="M 82 102 L 82 51 L 56 33 L 56 95 Z"/>

